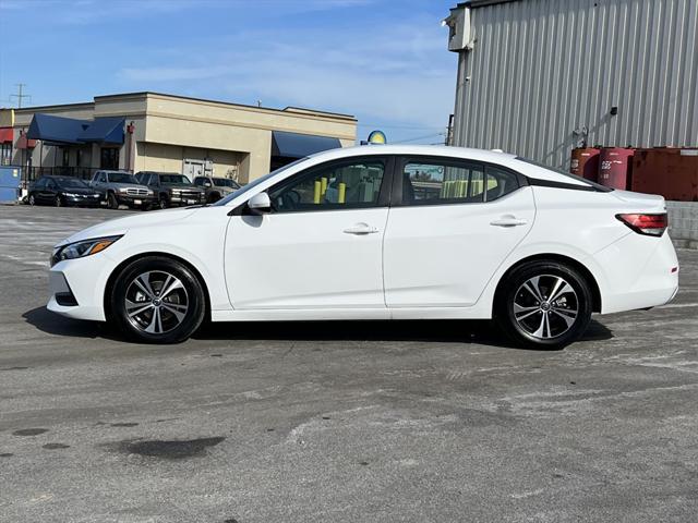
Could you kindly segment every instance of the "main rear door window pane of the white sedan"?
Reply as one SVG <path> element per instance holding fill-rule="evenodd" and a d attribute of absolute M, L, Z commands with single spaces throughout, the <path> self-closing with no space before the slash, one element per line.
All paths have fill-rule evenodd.
<path fill-rule="evenodd" d="M 408 161 L 402 170 L 402 203 L 440 205 L 484 202 L 484 170 L 479 163 Z"/>

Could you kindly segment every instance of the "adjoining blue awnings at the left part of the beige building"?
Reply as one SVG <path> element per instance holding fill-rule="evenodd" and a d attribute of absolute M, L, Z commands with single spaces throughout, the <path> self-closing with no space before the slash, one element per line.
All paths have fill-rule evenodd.
<path fill-rule="evenodd" d="M 37 112 L 26 135 L 55 144 L 123 144 L 124 118 L 96 118 L 76 120 Z"/>

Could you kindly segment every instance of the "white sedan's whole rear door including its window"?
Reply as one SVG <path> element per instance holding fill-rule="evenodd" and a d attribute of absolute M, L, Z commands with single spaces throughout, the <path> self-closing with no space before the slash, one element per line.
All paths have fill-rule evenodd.
<path fill-rule="evenodd" d="M 531 229 L 535 208 L 524 183 L 496 166 L 401 158 L 384 244 L 387 306 L 473 305 Z"/>

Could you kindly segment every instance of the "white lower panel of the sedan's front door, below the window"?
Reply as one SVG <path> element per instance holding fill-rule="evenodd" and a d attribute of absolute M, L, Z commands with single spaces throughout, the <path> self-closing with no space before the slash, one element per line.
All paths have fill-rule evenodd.
<path fill-rule="evenodd" d="M 385 308 L 388 209 L 232 216 L 226 281 L 236 309 Z"/>

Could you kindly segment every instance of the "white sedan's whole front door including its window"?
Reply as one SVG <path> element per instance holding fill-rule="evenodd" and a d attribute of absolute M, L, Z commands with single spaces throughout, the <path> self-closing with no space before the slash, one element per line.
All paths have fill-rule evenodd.
<path fill-rule="evenodd" d="M 370 157 L 310 168 L 269 187 L 270 212 L 232 216 L 226 281 L 233 307 L 385 311 L 387 163 Z"/>

